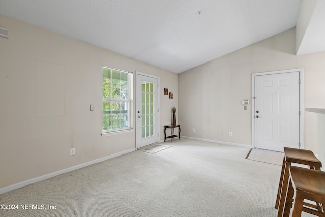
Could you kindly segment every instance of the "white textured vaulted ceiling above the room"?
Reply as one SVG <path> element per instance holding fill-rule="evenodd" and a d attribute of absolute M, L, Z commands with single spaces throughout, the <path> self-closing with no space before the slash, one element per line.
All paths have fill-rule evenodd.
<path fill-rule="evenodd" d="M 301 3 L 1 0 L 0 14 L 181 73 L 295 27 Z"/>

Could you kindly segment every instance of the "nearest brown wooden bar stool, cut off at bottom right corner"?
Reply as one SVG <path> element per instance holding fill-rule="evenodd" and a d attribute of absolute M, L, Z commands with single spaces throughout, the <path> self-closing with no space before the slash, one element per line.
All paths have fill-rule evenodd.
<path fill-rule="evenodd" d="M 289 185 L 283 215 L 281 216 L 288 217 L 291 206 L 293 207 L 293 217 L 300 217 L 302 212 L 325 216 L 322 207 L 322 204 L 325 204 L 325 172 L 290 166 L 289 174 Z M 296 195 L 295 198 L 294 194 Z M 317 205 L 307 204 L 314 209 L 307 208 L 303 206 L 306 205 L 304 199 L 314 201 Z"/>

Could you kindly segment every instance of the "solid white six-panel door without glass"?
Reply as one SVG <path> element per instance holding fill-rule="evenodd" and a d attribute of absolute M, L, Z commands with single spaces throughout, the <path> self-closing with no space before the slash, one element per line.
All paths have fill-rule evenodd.
<path fill-rule="evenodd" d="M 299 72 L 255 76 L 255 147 L 299 148 Z"/>

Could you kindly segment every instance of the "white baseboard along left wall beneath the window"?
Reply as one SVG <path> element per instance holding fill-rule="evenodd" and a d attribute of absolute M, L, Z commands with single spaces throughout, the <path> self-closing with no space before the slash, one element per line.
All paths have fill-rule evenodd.
<path fill-rule="evenodd" d="M 128 149 L 128 150 L 125 150 L 125 151 L 121 151 L 121 152 L 112 154 L 110 156 L 106 156 L 104 158 L 96 159 L 96 160 L 89 161 L 89 162 L 86 162 L 86 163 L 83 163 L 83 164 L 79 164 L 79 165 L 76 165 L 76 166 L 73 166 L 73 167 L 69 167 L 67 169 L 59 170 L 59 171 L 56 171 L 56 172 L 53 172 L 53 173 L 50 173 L 50 174 L 42 175 L 42 176 L 39 176 L 39 177 L 36 177 L 36 178 L 32 178 L 32 179 L 29 179 L 29 180 L 26 180 L 26 181 L 22 181 L 22 182 L 13 184 L 13 185 L 9 185 L 7 187 L 1 188 L 0 189 L 0 194 L 10 192 L 12 190 L 25 187 L 26 185 L 33 184 L 33 183 L 36 183 L 36 182 L 39 182 L 39 181 L 43 181 L 43 180 L 52 178 L 52 177 L 57 176 L 57 175 L 61 175 L 63 173 L 67 173 L 67 172 L 71 172 L 73 170 L 77 170 L 77 169 L 80 169 L 80 168 L 83 168 L 83 167 L 87 167 L 87 166 L 92 165 L 92 164 L 100 163 L 102 161 L 106 161 L 106 160 L 109 160 L 111 158 L 115 158 L 115 157 L 121 156 L 123 154 L 129 153 L 129 152 L 132 152 L 132 151 L 135 151 L 135 150 L 136 150 L 136 148 L 131 148 L 131 149 Z"/>

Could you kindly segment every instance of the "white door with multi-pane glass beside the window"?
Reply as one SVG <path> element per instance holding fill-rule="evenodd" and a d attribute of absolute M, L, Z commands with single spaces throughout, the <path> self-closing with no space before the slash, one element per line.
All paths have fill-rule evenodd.
<path fill-rule="evenodd" d="M 158 142 L 158 78 L 136 74 L 137 148 Z"/>

